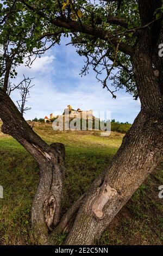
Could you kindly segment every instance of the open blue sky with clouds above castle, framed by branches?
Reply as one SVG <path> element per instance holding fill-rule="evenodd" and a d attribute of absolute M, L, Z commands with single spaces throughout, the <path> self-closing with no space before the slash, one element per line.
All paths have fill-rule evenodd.
<path fill-rule="evenodd" d="M 67 105 L 74 109 L 110 111 L 111 119 L 129 121 L 133 123 L 140 111 L 140 102 L 133 100 L 133 96 L 120 90 L 117 98 L 112 99 L 111 94 L 102 88 L 96 80 L 94 71 L 81 77 L 83 57 L 78 56 L 73 46 L 65 46 L 67 39 L 62 38 L 60 46 L 54 46 L 41 58 L 35 60 L 32 68 L 24 65 L 18 68 L 18 76 L 14 83 L 26 77 L 34 77 L 35 86 L 30 90 L 27 106 L 30 111 L 24 114 L 26 120 L 49 117 L 50 113 L 61 114 Z M 16 102 L 19 98 L 18 91 L 11 95 Z"/>

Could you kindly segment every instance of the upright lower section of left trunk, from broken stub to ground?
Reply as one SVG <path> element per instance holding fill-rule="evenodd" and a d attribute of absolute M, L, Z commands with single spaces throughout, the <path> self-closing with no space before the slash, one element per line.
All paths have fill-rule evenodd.
<path fill-rule="evenodd" d="M 64 145 L 52 143 L 51 147 L 57 150 L 57 154 L 53 155 L 52 161 L 47 159 L 40 164 L 40 182 L 33 200 L 31 216 L 34 234 L 43 244 L 51 243 L 49 232 L 59 222 L 65 172 Z"/>

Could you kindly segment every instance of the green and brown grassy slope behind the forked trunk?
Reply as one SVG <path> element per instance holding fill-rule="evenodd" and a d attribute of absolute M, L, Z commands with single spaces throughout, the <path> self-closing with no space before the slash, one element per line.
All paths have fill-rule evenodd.
<path fill-rule="evenodd" d="M 111 161 L 123 138 L 112 132 L 101 137 L 98 132 L 54 132 L 51 124 L 35 123 L 34 130 L 47 143 L 61 142 L 66 147 L 66 179 L 62 209 L 64 212 Z M 37 163 L 15 139 L 0 132 L 0 244 L 33 245 L 30 209 L 39 181 Z M 141 185 L 126 206 L 111 222 L 99 245 L 163 245 L 163 199 L 158 187 L 163 185 L 163 164 Z M 57 236 L 60 245 L 64 235 Z"/>

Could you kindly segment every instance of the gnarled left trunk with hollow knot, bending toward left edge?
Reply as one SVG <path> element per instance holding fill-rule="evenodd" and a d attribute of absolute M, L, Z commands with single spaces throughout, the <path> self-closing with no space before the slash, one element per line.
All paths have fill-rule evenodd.
<path fill-rule="evenodd" d="M 46 144 L 22 117 L 10 97 L 0 89 L 2 132 L 14 137 L 37 161 L 40 182 L 32 206 L 32 228 L 40 243 L 48 243 L 49 235 L 60 216 L 64 180 L 65 147 L 61 143 Z"/>

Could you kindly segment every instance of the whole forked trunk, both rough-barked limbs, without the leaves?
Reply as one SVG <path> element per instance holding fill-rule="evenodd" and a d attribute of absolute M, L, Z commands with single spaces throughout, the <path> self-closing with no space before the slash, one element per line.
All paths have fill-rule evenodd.
<path fill-rule="evenodd" d="M 139 0 L 142 26 L 153 20 L 153 1 Z M 149 2 L 148 8 L 147 4 Z M 147 13 L 146 13 L 147 11 Z M 162 72 L 157 47 L 160 28 L 139 32 L 131 56 L 141 111 L 124 136 L 110 166 L 60 220 L 64 184 L 62 144 L 47 145 L 22 118 L 9 96 L 0 89 L 2 131 L 14 137 L 40 166 L 40 182 L 32 206 L 32 227 L 40 243 L 53 244 L 53 235 L 67 231 L 67 245 L 92 245 L 163 157 Z M 155 55 L 154 55 L 155 54 Z M 154 57 L 154 58 L 153 58 Z"/>

